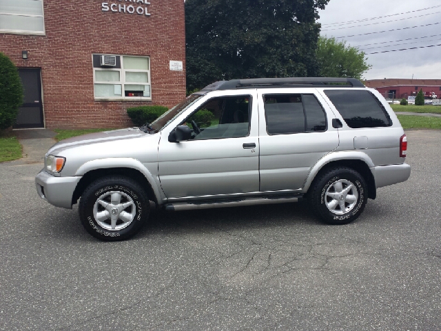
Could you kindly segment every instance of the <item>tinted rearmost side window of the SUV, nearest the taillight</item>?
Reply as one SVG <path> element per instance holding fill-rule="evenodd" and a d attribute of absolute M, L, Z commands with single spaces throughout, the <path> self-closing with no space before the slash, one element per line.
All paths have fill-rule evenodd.
<path fill-rule="evenodd" d="M 380 101 L 369 91 L 325 90 L 349 128 L 391 126 L 392 121 Z"/>

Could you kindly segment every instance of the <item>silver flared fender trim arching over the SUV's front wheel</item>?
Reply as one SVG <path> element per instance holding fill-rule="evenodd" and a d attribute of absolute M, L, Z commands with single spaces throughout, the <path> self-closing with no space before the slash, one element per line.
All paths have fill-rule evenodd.
<path fill-rule="evenodd" d="M 151 164 L 152 169 L 157 169 L 157 162 L 148 163 Z M 81 165 L 75 172 L 75 176 L 84 176 L 86 173 L 92 170 L 100 170 L 100 169 L 110 169 L 110 168 L 131 168 L 134 170 L 138 170 L 145 176 L 147 181 L 152 186 L 152 190 L 156 197 L 156 201 L 159 204 L 162 203 L 165 199 L 165 195 L 162 194 L 162 191 L 158 188 L 159 178 L 156 174 L 156 178 L 152 175 L 152 172 L 143 165 L 139 160 L 131 159 L 131 158 L 110 158 L 110 159 L 96 159 L 92 161 L 88 161 Z"/>

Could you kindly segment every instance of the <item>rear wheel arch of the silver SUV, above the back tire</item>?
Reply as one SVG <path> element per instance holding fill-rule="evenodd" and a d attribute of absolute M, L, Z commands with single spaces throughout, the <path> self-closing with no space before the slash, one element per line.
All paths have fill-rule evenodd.
<path fill-rule="evenodd" d="M 318 178 L 322 172 L 325 172 L 331 168 L 347 167 L 356 170 L 365 179 L 369 199 L 376 199 L 377 189 L 375 185 L 375 178 L 373 177 L 370 169 L 373 167 L 373 162 L 369 157 L 367 157 L 366 154 L 360 154 L 357 153 L 351 157 L 347 156 L 339 159 L 327 158 L 320 160 L 309 172 L 309 176 L 304 185 L 305 192 L 309 190 L 311 184 L 314 182 L 314 179 Z"/>

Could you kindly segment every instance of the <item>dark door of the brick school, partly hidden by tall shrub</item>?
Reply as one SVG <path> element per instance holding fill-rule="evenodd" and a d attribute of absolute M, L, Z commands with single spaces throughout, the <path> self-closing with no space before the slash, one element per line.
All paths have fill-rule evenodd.
<path fill-rule="evenodd" d="M 24 98 L 14 128 L 44 128 L 40 72 L 39 68 L 19 68 Z"/>

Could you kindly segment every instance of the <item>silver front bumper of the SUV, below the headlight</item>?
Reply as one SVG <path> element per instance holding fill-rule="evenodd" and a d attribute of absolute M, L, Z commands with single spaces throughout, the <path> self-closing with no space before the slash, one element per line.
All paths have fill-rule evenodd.
<path fill-rule="evenodd" d="M 35 177 L 35 185 L 41 199 L 57 207 L 72 209 L 72 196 L 80 179 L 81 177 L 55 177 L 41 170 Z"/>

